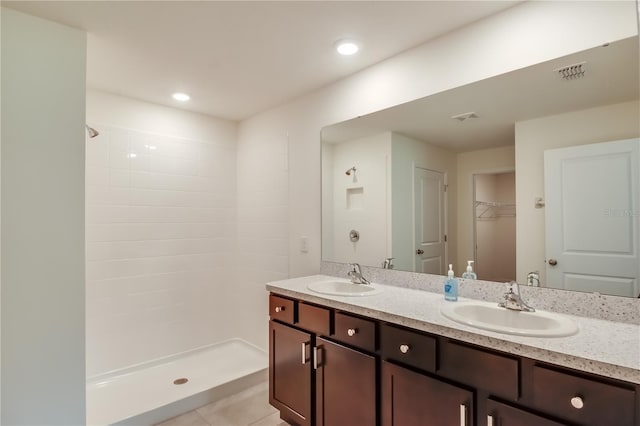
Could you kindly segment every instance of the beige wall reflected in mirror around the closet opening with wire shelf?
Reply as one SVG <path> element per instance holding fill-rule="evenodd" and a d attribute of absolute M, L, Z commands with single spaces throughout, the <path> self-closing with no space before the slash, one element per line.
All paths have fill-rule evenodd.
<path fill-rule="evenodd" d="M 473 175 L 515 169 L 515 148 L 504 146 L 458 154 L 458 263 L 455 271 L 464 272 L 467 260 L 473 260 Z"/>

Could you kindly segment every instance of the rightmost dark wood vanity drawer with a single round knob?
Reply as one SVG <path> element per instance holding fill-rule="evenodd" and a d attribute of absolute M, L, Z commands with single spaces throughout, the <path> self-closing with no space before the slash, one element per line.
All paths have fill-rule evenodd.
<path fill-rule="evenodd" d="M 533 367 L 536 409 L 580 425 L 637 425 L 635 391 L 540 365 Z M 635 420 L 635 422 L 634 422 Z"/>

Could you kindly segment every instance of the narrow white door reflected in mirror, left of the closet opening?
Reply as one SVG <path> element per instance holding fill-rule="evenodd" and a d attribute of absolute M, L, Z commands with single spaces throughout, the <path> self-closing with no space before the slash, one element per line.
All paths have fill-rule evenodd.
<path fill-rule="evenodd" d="M 446 273 L 445 184 L 444 173 L 414 170 L 416 272 Z"/>

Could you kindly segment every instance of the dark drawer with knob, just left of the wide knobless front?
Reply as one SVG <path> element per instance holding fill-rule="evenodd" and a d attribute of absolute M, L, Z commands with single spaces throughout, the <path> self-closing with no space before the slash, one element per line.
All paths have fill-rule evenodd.
<path fill-rule="evenodd" d="M 436 371 L 436 338 L 419 331 L 383 324 L 380 330 L 383 359 Z"/>

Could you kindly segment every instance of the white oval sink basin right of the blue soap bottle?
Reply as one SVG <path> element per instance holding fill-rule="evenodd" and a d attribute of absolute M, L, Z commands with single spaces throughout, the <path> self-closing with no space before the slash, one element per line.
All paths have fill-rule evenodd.
<path fill-rule="evenodd" d="M 577 324 L 565 316 L 545 311 L 513 311 L 497 303 L 449 302 L 440 312 L 460 324 L 516 336 L 564 337 L 578 332 Z"/>

